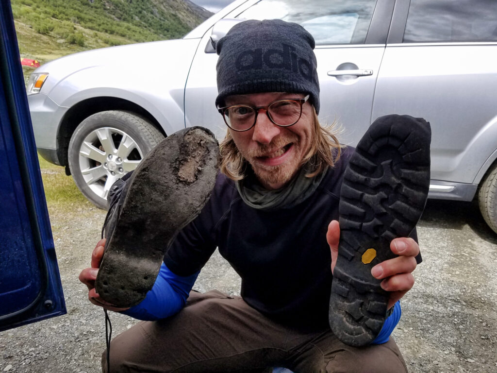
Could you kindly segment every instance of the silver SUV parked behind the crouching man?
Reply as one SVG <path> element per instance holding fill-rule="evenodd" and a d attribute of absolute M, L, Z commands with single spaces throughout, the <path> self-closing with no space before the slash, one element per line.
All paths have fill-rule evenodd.
<path fill-rule="evenodd" d="M 494 0 L 239 0 L 180 40 L 58 59 L 28 87 L 38 152 L 104 208 L 110 185 L 167 134 L 202 125 L 224 135 L 211 39 L 263 18 L 314 35 L 320 119 L 343 125 L 343 143 L 355 145 L 384 114 L 425 118 L 433 132 L 429 197 L 478 195 L 497 232 Z"/>

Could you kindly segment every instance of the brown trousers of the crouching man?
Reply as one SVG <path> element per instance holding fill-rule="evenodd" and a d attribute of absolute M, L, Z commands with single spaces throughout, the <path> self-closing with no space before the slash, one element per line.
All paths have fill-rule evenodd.
<path fill-rule="evenodd" d="M 107 372 L 106 354 L 102 370 Z M 185 308 L 160 321 L 142 321 L 112 340 L 110 371 L 407 373 L 390 340 L 355 348 L 331 330 L 300 333 L 282 327 L 241 297 L 191 292 Z"/>

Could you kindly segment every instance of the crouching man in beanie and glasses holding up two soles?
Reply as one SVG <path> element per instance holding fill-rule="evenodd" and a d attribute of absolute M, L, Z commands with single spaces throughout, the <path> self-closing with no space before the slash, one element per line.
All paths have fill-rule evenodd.
<path fill-rule="evenodd" d="M 242 22 L 218 42 L 216 104 L 229 128 L 209 201 L 137 306 L 119 309 L 95 293 L 103 240 L 80 275 L 92 303 L 153 320 L 112 341 L 112 373 L 407 372 L 389 338 L 399 307 L 364 347 L 340 342 L 328 325 L 351 151 L 319 125 L 313 49 L 305 29 L 279 20 Z M 216 247 L 241 276 L 241 297 L 189 292 Z M 372 269 L 389 291 L 388 308 L 413 286 L 419 254 L 412 238 L 394 239 L 391 250 L 399 257 Z"/>

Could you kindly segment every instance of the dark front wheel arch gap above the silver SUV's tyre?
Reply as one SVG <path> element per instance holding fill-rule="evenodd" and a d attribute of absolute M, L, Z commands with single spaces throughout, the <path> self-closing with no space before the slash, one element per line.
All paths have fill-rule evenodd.
<path fill-rule="evenodd" d="M 159 121 L 148 110 L 132 101 L 111 96 L 84 99 L 73 105 L 64 114 L 57 133 L 57 158 L 61 165 L 66 167 L 67 175 L 71 175 L 68 162 L 69 142 L 76 127 L 88 116 L 107 110 L 129 111 L 142 116 L 161 131 L 164 136 L 167 136 Z"/>

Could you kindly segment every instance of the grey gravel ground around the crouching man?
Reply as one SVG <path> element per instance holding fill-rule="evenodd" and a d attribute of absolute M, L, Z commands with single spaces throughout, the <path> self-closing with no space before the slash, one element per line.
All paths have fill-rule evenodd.
<path fill-rule="evenodd" d="M 103 312 L 78 281 L 105 212 L 89 203 L 49 206 L 67 315 L 0 333 L 0 372 L 100 372 Z M 423 263 L 394 331 L 411 373 L 497 372 L 497 235 L 472 203 L 428 201 L 418 224 Z M 216 254 L 195 288 L 239 294 L 240 280 Z M 111 314 L 114 335 L 136 321 Z"/>

